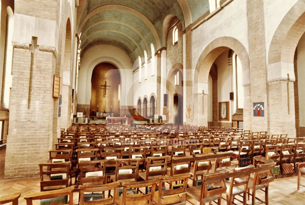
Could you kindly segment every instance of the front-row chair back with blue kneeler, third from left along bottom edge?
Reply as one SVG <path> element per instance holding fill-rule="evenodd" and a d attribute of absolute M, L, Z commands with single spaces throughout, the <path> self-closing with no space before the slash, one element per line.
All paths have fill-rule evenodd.
<path fill-rule="evenodd" d="M 95 205 L 95 204 L 107 204 L 117 205 L 117 195 L 120 182 L 112 182 L 103 185 L 80 185 L 78 187 L 80 192 L 80 205 Z M 113 190 L 113 196 L 105 196 L 105 191 L 109 193 Z M 91 194 L 85 194 L 85 193 Z M 98 192 L 98 193 L 96 193 Z M 102 193 L 101 193 L 102 192 Z"/>

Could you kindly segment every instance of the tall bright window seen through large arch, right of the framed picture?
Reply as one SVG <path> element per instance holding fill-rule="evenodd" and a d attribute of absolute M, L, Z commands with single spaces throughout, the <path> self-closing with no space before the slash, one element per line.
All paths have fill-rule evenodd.
<path fill-rule="evenodd" d="M 236 55 L 232 55 L 233 65 L 233 92 L 234 92 L 234 113 L 237 109 L 244 108 L 244 87 L 242 86 L 242 64 Z"/>

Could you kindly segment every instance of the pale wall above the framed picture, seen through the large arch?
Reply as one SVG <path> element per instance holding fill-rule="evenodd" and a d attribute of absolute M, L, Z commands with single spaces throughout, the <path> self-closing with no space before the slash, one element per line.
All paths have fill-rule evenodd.
<path fill-rule="evenodd" d="M 221 53 L 215 60 L 214 64 L 217 66 L 217 94 L 218 102 L 229 101 L 229 121 L 232 122 L 232 101 L 230 101 L 230 92 L 232 92 L 232 70 L 228 65 L 228 51 Z"/>

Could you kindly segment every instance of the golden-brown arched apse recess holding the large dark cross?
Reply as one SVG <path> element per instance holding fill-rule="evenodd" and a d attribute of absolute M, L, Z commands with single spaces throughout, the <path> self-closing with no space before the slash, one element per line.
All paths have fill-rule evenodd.
<path fill-rule="evenodd" d="M 119 85 L 120 72 L 111 63 L 100 63 L 93 69 L 91 76 L 90 116 L 103 118 L 120 116 Z M 97 113 L 99 112 L 99 113 Z"/>

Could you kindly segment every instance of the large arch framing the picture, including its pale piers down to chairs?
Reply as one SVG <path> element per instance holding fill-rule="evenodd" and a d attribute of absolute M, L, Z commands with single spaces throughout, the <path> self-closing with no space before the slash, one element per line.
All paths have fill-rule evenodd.
<path fill-rule="evenodd" d="M 207 122 L 207 103 L 203 104 L 203 101 L 207 101 L 208 94 L 208 77 L 210 69 L 216 58 L 226 50 L 233 50 L 238 56 L 242 64 L 242 85 L 247 88 L 250 86 L 250 61 L 249 55 L 244 45 L 233 37 L 219 37 L 213 40 L 201 53 L 194 72 L 193 78 L 193 101 L 194 103 L 194 118 L 189 119 L 187 123 L 193 123 L 198 125 L 206 125 Z M 204 93 L 203 93 L 204 92 Z M 250 96 L 250 90 L 244 89 L 244 98 Z M 243 112 L 246 115 L 251 115 L 251 105 L 248 101 L 244 105 Z M 250 119 L 247 120 L 244 126 L 250 127 Z"/>

